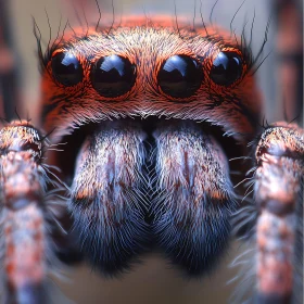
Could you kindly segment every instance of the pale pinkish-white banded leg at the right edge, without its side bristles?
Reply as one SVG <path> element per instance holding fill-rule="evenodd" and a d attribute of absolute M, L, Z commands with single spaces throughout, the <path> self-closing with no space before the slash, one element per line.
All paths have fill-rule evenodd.
<path fill-rule="evenodd" d="M 303 268 L 303 129 L 286 123 L 266 128 L 255 155 L 257 303 L 291 303 L 299 293 L 294 274 Z"/>

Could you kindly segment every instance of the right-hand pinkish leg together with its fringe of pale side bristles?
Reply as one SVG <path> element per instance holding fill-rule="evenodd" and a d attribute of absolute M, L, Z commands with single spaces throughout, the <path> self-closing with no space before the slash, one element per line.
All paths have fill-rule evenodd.
<path fill-rule="evenodd" d="M 243 266 L 236 303 L 248 294 L 257 303 L 303 302 L 303 135 L 280 122 L 267 125 L 254 144 L 248 188 L 254 198 L 233 220 L 237 229 L 251 228 L 242 238 L 251 250 L 242 245 L 233 262 Z"/>

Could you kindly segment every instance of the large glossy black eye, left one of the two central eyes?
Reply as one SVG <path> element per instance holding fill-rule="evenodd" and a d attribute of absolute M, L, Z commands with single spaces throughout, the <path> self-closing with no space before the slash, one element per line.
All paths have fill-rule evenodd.
<path fill-rule="evenodd" d="M 136 80 L 136 66 L 128 59 L 110 55 L 98 60 L 92 68 L 91 81 L 103 97 L 118 97 L 128 92 Z"/>

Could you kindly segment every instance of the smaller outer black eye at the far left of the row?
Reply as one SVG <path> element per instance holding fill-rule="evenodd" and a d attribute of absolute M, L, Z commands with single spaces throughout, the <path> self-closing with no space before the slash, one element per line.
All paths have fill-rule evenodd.
<path fill-rule="evenodd" d="M 68 52 L 58 53 L 52 58 L 53 77 L 66 87 L 75 86 L 83 80 L 83 67 L 78 59 Z"/>

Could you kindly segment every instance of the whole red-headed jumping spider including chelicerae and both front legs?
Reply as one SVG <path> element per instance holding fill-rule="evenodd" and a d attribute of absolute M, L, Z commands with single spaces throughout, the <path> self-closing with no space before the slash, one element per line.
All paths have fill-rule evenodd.
<path fill-rule="evenodd" d="M 22 119 L 0 132 L 9 301 L 41 303 L 47 252 L 75 250 L 68 238 L 106 276 L 156 246 L 199 277 L 239 226 L 256 242 L 256 302 L 291 303 L 304 132 L 259 126 L 251 39 L 147 17 L 71 27 L 46 54 L 36 38 L 47 136 Z M 249 204 L 233 189 L 246 176 Z M 65 206 L 73 224 L 58 237 Z"/>

